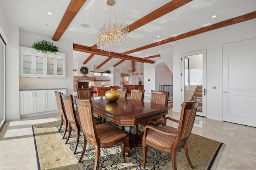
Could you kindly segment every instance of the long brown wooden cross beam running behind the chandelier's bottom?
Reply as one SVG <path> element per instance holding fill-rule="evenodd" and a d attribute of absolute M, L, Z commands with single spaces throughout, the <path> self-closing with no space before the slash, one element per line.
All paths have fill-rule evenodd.
<path fill-rule="evenodd" d="M 73 50 L 81 51 L 81 52 L 85 52 L 85 53 L 92 53 L 92 54 L 96 54 L 96 55 L 103 55 L 106 57 L 114 57 L 114 58 L 138 61 L 138 62 L 142 62 L 142 63 L 150 63 L 150 64 L 155 63 L 155 61 L 152 61 L 152 60 L 148 60 L 148 59 L 142 60 L 141 58 L 138 58 L 138 57 L 132 57 L 129 55 L 120 55 L 118 53 L 110 52 L 110 55 L 109 55 L 109 53 L 106 53 L 106 51 L 101 51 L 100 49 L 92 50 L 92 49 L 90 49 L 90 47 L 86 47 L 84 45 L 78 45 L 78 44 L 73 44 Z"/>

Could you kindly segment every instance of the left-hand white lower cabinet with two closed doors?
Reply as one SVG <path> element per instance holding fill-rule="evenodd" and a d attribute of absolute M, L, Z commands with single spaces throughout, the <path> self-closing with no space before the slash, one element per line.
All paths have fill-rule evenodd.
<path fill-rule="evenodd" d="M 20 91 L 21 115 L 45 111 L 45 91 Z"/>

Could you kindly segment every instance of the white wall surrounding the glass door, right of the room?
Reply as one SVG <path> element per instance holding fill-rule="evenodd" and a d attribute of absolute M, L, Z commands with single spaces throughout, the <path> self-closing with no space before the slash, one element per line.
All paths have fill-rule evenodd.
<path fill-rule="evenodd" d="M 173 111 L 180 112 L 181 54 L 207 49 L 207 118 L 222 120 L 222 44 L 256 38 L 256 19 L 174 42 Z M 216 85 L 216 89 L 212 89 Z"/>

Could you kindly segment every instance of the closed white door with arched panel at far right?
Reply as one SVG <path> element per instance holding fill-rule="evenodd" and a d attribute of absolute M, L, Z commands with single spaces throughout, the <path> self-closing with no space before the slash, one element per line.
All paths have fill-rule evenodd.
<path fill-rule="evenodd" d="M 256 127 L 256 39 L 223 44 L 222 120 Z"/>

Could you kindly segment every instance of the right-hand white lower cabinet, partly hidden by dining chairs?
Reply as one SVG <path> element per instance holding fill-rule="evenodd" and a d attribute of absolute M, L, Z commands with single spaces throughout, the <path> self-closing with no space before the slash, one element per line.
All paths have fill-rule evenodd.
<path fill-rule="evenodd" d="M 61 92 L 63 94 L 66 94 L 66 89 L 46 90 L 45 91 L 46 111 L 58 110 L 58 104 L 57 104 L 57 101 L 56 101 L 54 91 L 58 91 L 58 92 Z"/>

